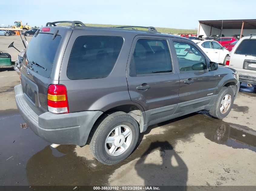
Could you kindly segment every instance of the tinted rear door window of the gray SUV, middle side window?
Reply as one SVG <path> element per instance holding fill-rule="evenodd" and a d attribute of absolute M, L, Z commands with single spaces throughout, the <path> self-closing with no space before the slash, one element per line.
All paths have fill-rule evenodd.
<path fill-rule="evenodd" d="M 139 39 L 131 60 L 130 75 L 172 72 L 167 42 L 156 39 Z"/>

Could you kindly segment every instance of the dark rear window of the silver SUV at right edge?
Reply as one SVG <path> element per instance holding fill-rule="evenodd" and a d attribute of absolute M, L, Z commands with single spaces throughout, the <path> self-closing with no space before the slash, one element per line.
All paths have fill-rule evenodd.
<path fill-rule="evenodd" d="M 256 55 L 256 39 L 245 39 L 237 47 L 235 54 Z"/>

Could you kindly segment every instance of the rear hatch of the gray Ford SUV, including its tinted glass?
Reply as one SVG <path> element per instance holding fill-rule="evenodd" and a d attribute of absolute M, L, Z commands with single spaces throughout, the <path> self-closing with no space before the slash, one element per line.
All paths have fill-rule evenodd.
<path fill-rule="evenodd" d="M 43 112 L 48 111 L 47 91 L 58 84 L 62 58 L 72 29 L 43 27 L 30 40 L 21 66 L 25 97 Z"/>

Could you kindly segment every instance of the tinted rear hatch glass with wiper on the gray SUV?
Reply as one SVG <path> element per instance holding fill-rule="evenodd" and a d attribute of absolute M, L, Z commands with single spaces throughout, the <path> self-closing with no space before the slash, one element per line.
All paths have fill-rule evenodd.
<path fill-rule="evenodd" d="M 28 44 L 23 64 L 27 66 L 30 63 L 32 71 L 49 78 L 60 40 L 59 35 L 52 40 L 52 34 L 38 33 Z"/>

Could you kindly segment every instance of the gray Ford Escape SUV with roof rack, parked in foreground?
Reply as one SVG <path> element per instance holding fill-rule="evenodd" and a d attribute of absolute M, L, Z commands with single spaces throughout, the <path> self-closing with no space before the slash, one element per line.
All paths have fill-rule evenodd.
<path fill-rule="evenodd" d="M 56 26 L 63 22 L 71 26 Z M 234 69 L 218 67 L 187 38 L 137 28 L 57 21 L 37 30 L 15 86 L 35 134 L 89 144 L 98 161 L 116 164 L 150 125 L 199 110 L 228 115 L 240 85 Z"/>

